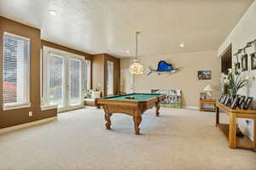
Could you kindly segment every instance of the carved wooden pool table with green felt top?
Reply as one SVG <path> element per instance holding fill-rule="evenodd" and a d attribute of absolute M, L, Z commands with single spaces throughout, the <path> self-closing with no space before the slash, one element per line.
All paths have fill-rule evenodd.
<path fill-rule="evenodd" d="M 126 99 L 133 97 L 134 99 Z M 106 128 L 111 129 L 110 116 L 113 113 L 123 113 L 133 117 L 135 134 L 140 134 L 139 125 L 142 122 L 143 112 L 156 107 L 155 115 L 159 116 L 160 101 L 165 94 L 125 94 L 96 99 L 97 105 L 102 105 L 105 112 Z"/>

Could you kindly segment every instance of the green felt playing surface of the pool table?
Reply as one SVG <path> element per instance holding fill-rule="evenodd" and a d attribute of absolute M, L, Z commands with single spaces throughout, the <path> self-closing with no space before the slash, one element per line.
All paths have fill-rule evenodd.
<path fill-rule="evenodd" d="M 111 97 L 104 97 L 102 99 L 109 99 L 109 100 L 125 100 L 125 101 L 146 101 L 151 98 L 155 98 L 160 96 L 161 94 L 125 94 L 119 96 L 111 96 Z M 135 97 L 135 99 L 125 99 L 127 96 Z"/>

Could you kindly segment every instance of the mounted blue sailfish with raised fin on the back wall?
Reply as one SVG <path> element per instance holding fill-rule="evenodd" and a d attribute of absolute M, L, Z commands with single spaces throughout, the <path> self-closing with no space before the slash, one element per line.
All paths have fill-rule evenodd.
<path fill-rule="evenodd" d="M 157 70 L 154 70 L 149 66 L 150 71 L 148 72 L 148 75 L 150 75 L 153 72 L 157 72 L 158 75 L 160 75 L 161 73 L 169 73 L 171 75 L 172 73 L 177 72 L 179 68 L 174 68 L 172 64 L 168 64 L 166 63 L 166 61 L 160 60 L 158 62 Z"/>

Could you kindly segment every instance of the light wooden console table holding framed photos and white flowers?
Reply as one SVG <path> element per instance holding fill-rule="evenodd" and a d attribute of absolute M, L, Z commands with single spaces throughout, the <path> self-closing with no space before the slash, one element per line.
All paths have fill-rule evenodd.
<path fill-rule="evenodd" d="M 224 135 L 229 139 L 229 145 L 231 149 L 244 148 L 253 150 L 256 152 L 256 111 L 255 110 L 232 110 L 230 107 L 223 105 L 216 101 L 216 126 L 219 127 Z M 219 109 L 222 109 L 230 116 L 230 124 L 219 123 Z M 253 141 L 247 136 L 236 137 L 236 131 L 239 132 L 239 128 L 236 125 L 236 118 L 253 119 Z"/>

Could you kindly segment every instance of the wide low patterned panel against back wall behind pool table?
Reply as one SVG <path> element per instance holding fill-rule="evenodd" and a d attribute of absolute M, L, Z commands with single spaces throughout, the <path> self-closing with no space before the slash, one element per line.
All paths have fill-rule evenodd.
<path fill-rule="evenodd" d="M 166 99 L 160 102 L 162 107 L 182 108 L 180 89 L 151 89 L 151 94 L 166 94 Z"/>

